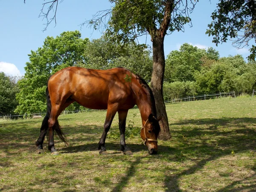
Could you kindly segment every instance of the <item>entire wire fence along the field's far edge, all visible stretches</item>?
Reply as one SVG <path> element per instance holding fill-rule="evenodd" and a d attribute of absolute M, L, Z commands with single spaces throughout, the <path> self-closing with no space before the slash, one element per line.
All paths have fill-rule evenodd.
<path fill-rule="evenodd" d="M 254 93 L 254 90 L 253 90 Z M 176 102 L 188 102 L 188 101 L 197 101 L 197 100 L 206 100 L 206 99 L 218 99 L 218 98 L 236 98 L 235 91 L 232 92 L 223 92 L 223 93 L 213 93 L 213 94 L 204 94 L 198 96 L 187 96 L 183 98 L 171 99 L 165 101 L 166 104 L 176 103 Z M 83 113 L 85 111 L 99 111 L 94 109 L 86 109 L 86 110 L 75 110 L 75 111 L 67 111 L 64 110 L 61 112 L 63 114 L 70 114 L 70 113 Z M 41 118 L 45 116 L 46 113 L 37 112 L 37 113 L 25 113 L 23 115 L 20 114 L 0 114 L 0 119 L 32 119 L 32 118 Z"/>

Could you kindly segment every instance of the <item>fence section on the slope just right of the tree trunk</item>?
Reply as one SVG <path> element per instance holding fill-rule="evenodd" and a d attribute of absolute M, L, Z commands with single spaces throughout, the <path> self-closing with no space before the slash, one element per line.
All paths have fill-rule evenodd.
<path fill-rule="evenodd" d="M 204 94 L 198 96 L 187 96 L 178 99 L 171 99 L 165 101 L 166 104 L 168 103 L 175 103 L 175 102 L 186 102 L 186 101 L 197 101 L 197 100 L 206 100 L 206 99 L 215 99 L 215 98 L 236 98 L 235 91 L 231 92 L 221 92 L 221 93 L 212 93 L 212 94 Z"/>

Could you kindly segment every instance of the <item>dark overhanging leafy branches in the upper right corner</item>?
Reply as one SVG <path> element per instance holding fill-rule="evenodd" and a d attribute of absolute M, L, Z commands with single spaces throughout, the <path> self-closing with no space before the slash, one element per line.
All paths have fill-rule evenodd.
<path fill-rule="evenodd" d="M 220 0 L 212 13 L 212 23 L 206 34 L 213 36 L 216 46 L 228 38 L 236 38 L 233 44 L 237 48 L 256 42 L 256 1 L 255 0 Z M 249 60 L 255 61 L 256 46 L 250 48 Z"/>

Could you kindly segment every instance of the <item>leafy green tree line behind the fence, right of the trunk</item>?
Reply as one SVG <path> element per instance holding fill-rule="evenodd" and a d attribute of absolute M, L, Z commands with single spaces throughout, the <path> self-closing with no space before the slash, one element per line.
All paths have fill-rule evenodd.
<path fill-rule="evenodd" d="M 252 93 L 255 77 L 255 61 L 245 62 L 241 55 L 219 58 L 212 47 L 205 50 L 183 44 L 166 58 L 164 99 L 228 91 Z"/>

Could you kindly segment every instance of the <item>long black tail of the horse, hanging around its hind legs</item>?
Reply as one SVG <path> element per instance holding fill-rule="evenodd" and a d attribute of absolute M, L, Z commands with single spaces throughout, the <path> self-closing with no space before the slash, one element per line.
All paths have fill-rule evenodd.
<path fill-rule="evenodd" d="M 44 136 L 47 135 L 48 138 L 48 120 L 50 118 L 50 114 L 51 114 L 51 110 L 52 110 L 52 104 L 51 104 L 51 99 L 50 99 L 50 95 L 49 95 L 49 90 L 48 90 L 48 86 L 46 87 L 46 99 L 47 99 L 47 112 L 46 115 L 43 119 L 42 125 L 41 125 L 41 134 L 40 137 L 38 138 L 37 142 L 35 143 L 35 145 L 39 145 L 42 143 L 42 140 L 44 139 Z M 58 137 L 60 138 L 60 140 L 62 140 L 65 145 L 67 143 L 67 140 L 65 139 L 65 135 L 64 133 L 61 131 L 61 126 L 58 123 L 58 120 L 56 120 L 54 126 L 52 127 L 52 129 L 54 130 L 55 134 L 58 135 Z"/>

